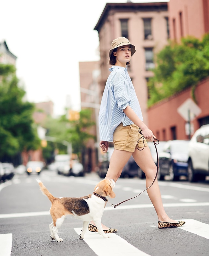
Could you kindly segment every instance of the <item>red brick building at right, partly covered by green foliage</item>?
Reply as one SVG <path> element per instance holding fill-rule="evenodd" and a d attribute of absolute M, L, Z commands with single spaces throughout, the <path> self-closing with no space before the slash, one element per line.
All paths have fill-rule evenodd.
<path fill-rule="evenodd" d="M 169 21 L 172 40 L 180 43 L 188 35 L 202 39 L 209 32 L 209 0 L 170 0 Z M 187 123 L 177 109 L 191 99 L 191 88 L 156 103 L 148 109 L 148 125 L 160 140 L 188 139 Z M 195 89 L 195 98 L 201 113 L 191 121 L 193 134 L 201 125 L 209 124 L 209 78 L 200 81 Z"/>

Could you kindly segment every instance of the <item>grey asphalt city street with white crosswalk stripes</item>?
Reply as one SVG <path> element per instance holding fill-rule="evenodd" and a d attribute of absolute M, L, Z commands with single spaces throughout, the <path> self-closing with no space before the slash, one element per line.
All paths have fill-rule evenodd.
<path fill-rule="evenodd" d="M 167 214 L 185 220 L 179 228 L 158 229 L 158 219 L 147 192 L 116 208 L 107 204 L 102 222 L 118 229 L 104 239 L 87 232 L 80 240 L 82 221 L 69 215 L 59 230 L 63 242 L 50 239 L 51 203 L 40 190 L 40 179 L 55 197 L 81 197 L 94 191 L 101 179 L 96 174 L 65 177 L 44 170 L 28 176 L 16 174 L 0 185 L 0 255 L 208 255 L 209 181 L 159 181 Z M 139 194 L 145 180 L 118 179 L 110 203 L 118 204 Z"/>

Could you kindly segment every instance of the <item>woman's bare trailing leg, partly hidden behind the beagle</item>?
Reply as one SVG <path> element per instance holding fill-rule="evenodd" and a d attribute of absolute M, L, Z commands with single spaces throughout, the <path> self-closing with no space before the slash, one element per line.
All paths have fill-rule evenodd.
<path fill-rule="evenodd" d="M 117 179 L 120 177 L 121 172 L 125 164 L 128 162 L 129 158 L 131 157 L 131 155 L 132 155 L 132 152 L 114 149 L 110 159 L 109 168 L 108 168 L 105 179 L 108 179 L 108 180 L 114 179 L 116 182 Z M 91 221 L 90 223 L 95 226 L 94 221 Z M 102 229 L 108 230 L 109 227 L 102 224 Z"/>

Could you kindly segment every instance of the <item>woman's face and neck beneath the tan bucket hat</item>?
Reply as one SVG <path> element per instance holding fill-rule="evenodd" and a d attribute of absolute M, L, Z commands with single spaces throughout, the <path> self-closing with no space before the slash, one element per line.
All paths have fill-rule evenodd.
<path fill-rule="evenodd" d="M 129 44 L 123 45 L 117 48 L 117 51 L 113 53 L 116 57 L 116 66 L 126 66 L 126 63 L 131 59 L 131 47 Z"/>

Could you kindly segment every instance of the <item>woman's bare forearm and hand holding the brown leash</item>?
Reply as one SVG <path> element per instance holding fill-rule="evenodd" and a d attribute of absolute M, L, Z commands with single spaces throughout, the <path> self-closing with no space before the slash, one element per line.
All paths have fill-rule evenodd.
<path fill-rule="evenodd" d="M 127 115 L 127 117 L 129 119 L 131 119 L 131 121 L 133 123 L 135 123 L 138 127 L 140 127 L 142 129 L 142 134 L 143 134 L 144 138 L 146 138 L 147 140 L 151 140 L 151 141 L 154 140 L 155 136 L 154 136 L 153 132 L 148 129 L 146 124 L 144 124 L 144 122 L 140 118 L 138 118 L 138 116 L 136 115 L 136 113 L 133 111 L 133 109 L 130 106 L 127 106 L 123 110 L 123 112 Z"/>

